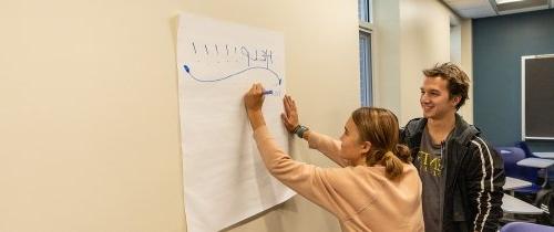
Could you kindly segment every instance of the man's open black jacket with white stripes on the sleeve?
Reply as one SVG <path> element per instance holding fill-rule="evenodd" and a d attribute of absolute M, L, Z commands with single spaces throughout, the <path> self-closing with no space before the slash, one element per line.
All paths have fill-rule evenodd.
<path fill-rule="evenodd" d="M 425 118 L 416 118 L 400 133 L 400 140 L 410 147 L 414 159 L 425 125 Z M 458 114 L 442 149 L 442 231 L 496 231 L 505 181 L 502 158 L 480 137 L 479 129 Z"/>

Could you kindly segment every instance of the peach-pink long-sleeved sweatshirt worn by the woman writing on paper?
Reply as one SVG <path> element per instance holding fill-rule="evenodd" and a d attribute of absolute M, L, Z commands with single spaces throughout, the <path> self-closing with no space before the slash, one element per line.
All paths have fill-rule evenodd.
<path fill-rule="evenodd" d="M 340 141 L 310 133 L 309 147 L 318 149 L 342 168 L 319 168 L 295 161 L 283 152 L 266 126 L 254 139 L 269 172 L 284 184 L 335 214 L 342 231 L 424 231 L 421 180 L 413 165 L 391 181 L 384 167 L 345 167 L 338 156 Z"/>

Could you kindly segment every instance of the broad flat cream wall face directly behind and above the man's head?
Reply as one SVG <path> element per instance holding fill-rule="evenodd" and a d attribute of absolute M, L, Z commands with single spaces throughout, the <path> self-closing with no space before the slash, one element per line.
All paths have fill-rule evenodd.
<path fill-rule="evenodd" d="M 402 0 L 401 12 L 401 116 L 407 123 L 421 117 L 421 70 L 450 61 L 450 11 L 435 0 Z"/>

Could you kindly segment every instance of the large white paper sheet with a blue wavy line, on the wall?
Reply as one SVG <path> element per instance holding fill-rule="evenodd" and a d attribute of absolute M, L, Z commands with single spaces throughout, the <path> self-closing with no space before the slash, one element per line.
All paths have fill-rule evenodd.
<path fill-rule="evenodd" d="M 259 157 L 243 95 L 261 83 L 264 115 L 288 152 L 281 33 L 191 13 L 179 15 L 177 70 L 187 231 L 218 231 L 295 194 Z"/>

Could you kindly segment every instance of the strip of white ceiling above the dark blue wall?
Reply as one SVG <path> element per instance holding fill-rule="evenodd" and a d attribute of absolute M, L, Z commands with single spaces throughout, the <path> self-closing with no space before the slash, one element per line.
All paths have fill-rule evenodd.
<path fill-rule="evenodd" d="M 442 2 L 460 17 L 471 19 L 543 10 L 553 8 L 554 4 L 554 0 L 442 0 Z"/>

